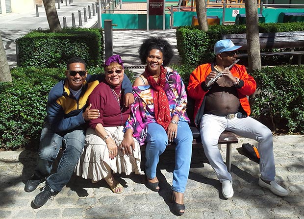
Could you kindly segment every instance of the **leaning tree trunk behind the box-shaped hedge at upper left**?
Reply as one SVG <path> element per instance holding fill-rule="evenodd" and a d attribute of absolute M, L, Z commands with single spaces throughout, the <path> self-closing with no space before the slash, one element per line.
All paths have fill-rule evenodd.
<path fill-rule="evenodd" d="M 44 8 L 46 9 L 47 19 L 51 32 L 61 31 L 57 10 L 54 0 L 43 0 Z"/>

